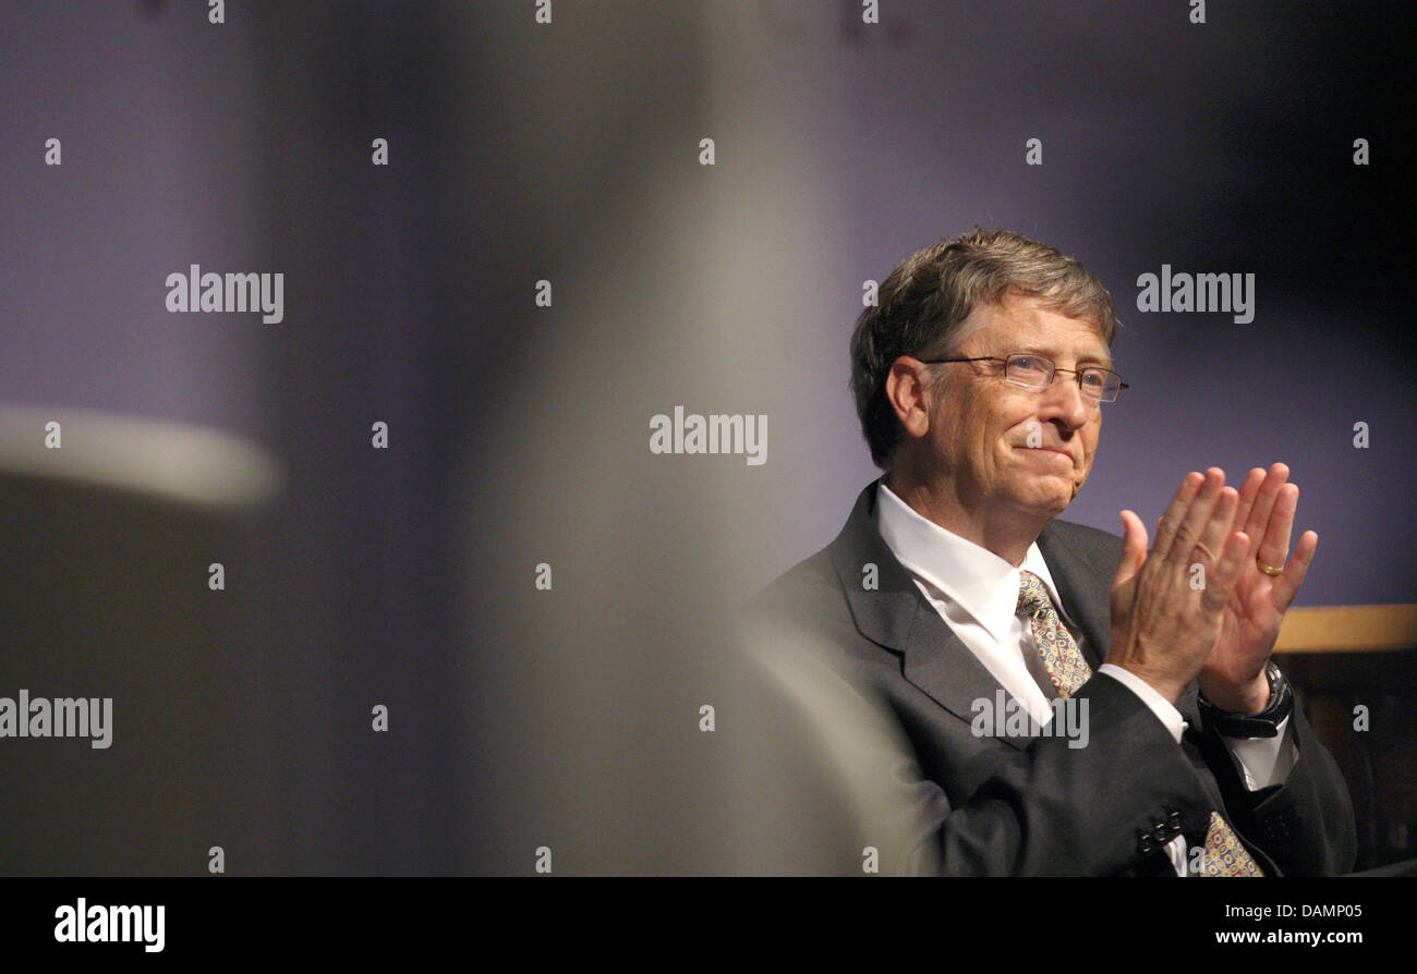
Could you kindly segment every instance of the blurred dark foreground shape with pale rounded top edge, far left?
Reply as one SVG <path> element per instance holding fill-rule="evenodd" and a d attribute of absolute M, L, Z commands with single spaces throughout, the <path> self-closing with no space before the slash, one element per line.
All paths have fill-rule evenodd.
<path fill-rule="evenodd" d="M 203 875 L 210 848 L 249 848 L 269 804 L 249 528 L 282 480 L 225 433 L 0 408 L 0 697 L 112 698 L 106 747 L 0 738 L 0 873 Z"/>

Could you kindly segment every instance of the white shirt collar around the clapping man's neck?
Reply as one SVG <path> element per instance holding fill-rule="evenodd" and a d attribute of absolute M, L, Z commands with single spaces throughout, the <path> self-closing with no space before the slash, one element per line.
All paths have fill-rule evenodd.
<path fill-rule="evenodd" d="M 1029 545 L 1023 565 L 1015 568 L 988 548 L 921 517 L 884 480 L 876 491 L 876 527 L 907 572 L 955 602 L 1000 643 L 1007 638 L 1019 606 L 1022 569 L 1043 579 L 1053 605 L 1067 617 L 1037 542 Z"/>

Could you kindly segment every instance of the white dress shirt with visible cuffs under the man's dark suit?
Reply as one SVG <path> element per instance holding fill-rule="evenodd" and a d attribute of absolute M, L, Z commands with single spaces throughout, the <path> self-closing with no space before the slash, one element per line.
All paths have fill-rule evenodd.
<path fill-rule="evenodd" d="M 1063 624 L 1080 648 L 1085 646 L 1085 637 L 1068 619 L 1037 544 L 1029 545 L 1023 563 L 1015 568 L 988 548 L 965 541 L 921 517 L 884 480 L 876 498 L 876 527 L 925 600 L 1037 723 L 1051 721 L 1053 708 L 1049 701 L 1056 694 L 1047 684 L 1033 633 L 1016 614 L 1020 571 L 1033 572 L 1043 580 Z M 1186 721 L 1170 701 L 1145 680 L 1115 664 L 1104 663 L 1098 672 L 1105 672 L 1136 694 L 1180 745 Z M 1280 733 L 1274 738 L 1224 738 L 1224 742 L 1236 759 L 1241 780 L 1251 791 L 1281 784 L 1298 756 L 1288 718 L 1280 723 Z M 1185 876 L 1186 837 L 1172 840 L 1166 852 L 1178 875 Z"/>

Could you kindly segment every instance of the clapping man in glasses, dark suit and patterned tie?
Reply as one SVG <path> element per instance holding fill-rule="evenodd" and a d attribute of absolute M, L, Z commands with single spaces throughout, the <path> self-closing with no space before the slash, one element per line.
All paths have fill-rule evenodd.
<path fill-rule="evenodd" d="M 1318 544 L 1289 555 L 1284 464 L 1187 474 L 1151 551 L 1132 511 L 1122 539 L 1054 520 L 1125 388 L 1114 328 L 1102 285 L 1023 236 L 908 258 L 852 340 L 886 476 L 757 607 L 893 712 L 948 875 L 1345 872 L 1348 790 L 1270 661 Z M 1005 702 L 1032 733 L 981 719 Z"/>

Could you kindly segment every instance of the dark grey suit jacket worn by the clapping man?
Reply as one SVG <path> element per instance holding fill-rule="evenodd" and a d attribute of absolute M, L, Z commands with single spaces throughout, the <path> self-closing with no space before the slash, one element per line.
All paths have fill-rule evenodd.
<path fill-rule="evenodd" d="M 1039 548 L 1095 671 L 1108 647 L 1121 539 L 1053 521 Z M 867 563 L 877 566 L 876 589 L 863 588 Z M 1105 674 L 1076 694 L 1088 698 L 1085 747 L 975 736 L 971 705 L 1000 687 L 881 539 L 874 483 L 837 538 L 768 586 L 754 612 L 832 647 L 833 665 L 898 719 L 927 779 L 920 811 L 948 875 L 1175 875 L 1162 847 L 1179 832 L 1203 844 L 1212 810 L 1267 875 L 1352 869 L 1348 789 L 1299 708 L 1294 770 L 1258 791 L 1244 789 L 1224 743 L 1202 722 L 1195 685 L 1178 702 L 1190 728 L 1179 747 L 1141 698 Z"/>

